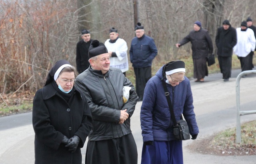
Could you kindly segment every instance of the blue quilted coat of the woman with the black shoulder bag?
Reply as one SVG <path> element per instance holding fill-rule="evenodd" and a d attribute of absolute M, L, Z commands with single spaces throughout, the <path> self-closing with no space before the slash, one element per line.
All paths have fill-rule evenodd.
<path fill-rule="evenodd" d="M 173 122 L 161 81 L 162 78 L 164 81 L 167 79 L 165 75 L 163 77 L 162 71 L 163 67 L 147 82 L 145 87 L 140 113 L 143 142 L 175 140 Z M 188 78 L 185 77 L 184 81 L 174 87 L 167 84 L 167 89 L 170 93 L 176 120 L 179 120 L 183 114 L 190 135 L 198 134 L 193 96 Z"/>

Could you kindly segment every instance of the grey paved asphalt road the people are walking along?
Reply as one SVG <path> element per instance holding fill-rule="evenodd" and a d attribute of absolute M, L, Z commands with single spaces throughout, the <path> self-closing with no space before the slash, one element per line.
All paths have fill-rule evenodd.
<path fill-rule="evenodd" d="M 196 118 L 199 126 L 197 140 L 216 132 L 236 126 L 236 77 L 241 70 L 233 70 L 228 82 L 222 74 L 205 78 L 204 83 L 191 79 Z M 256 75 L 248 75 L 240 81 L 241 110 L 256 110 Z M 140 129 L 140 106 L 131 118 L 131 129 L 138 147 L 138 163 L 141 159 L 142 136 Z M 255 120 L 255 114 L 241 116 L 241 122 Z M 0 118 L 0 164 L 34 163 L 34 131 L 31 125 L 32 113 Z M 191 152 L 186 146 L 193 140 L 183 141 L 184 164 L 255 164 L 256 155 L 215 156 Z M 83 163 L 86 145 L 82 148 Z"/>

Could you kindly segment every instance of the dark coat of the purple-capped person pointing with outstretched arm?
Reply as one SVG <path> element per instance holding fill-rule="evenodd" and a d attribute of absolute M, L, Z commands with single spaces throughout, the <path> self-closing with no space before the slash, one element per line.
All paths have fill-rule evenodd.
<path fill-rule="evenodd" d="M 190 31 L 190 33 L 181 40 L 180 46 L 188 42 L 192 44 L 193 59 L 207 58 L 208 54 L 213 52 L 212 39 L 209 32 L 203 28 L 200 28 L 199 31 Z"/>

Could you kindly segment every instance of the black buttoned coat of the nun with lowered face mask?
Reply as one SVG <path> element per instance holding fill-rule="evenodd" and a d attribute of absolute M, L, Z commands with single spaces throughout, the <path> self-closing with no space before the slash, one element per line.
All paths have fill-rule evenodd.
<path fill-rule="evenodd" d="M 53 85 L 55 81 L 39 89 L 33 99 L 35 164 L 81 164 L 81 148 L 92 127 L 88 102 L 75 87 L 67 102 Z M 80 137 L 74 153 L 61 143 L 64 135 Z"/>

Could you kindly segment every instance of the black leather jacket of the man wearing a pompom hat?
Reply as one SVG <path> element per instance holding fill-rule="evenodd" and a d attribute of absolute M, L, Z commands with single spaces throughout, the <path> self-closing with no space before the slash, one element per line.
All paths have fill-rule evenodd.
<path fill-rule="evenodd" d="M 137 94 L 132 83 L 120 69 L 110 67 L 103 75 L 100 70 L 89 67 L 77 76 L 75 85 L 85 94 L 93 117 L 89 141 L 108 140 L 131 133 L 130 117 L 135 110 Z M 130 98 L 125 104 L 123 86 L 131 87 Z M 120 110 L 125 109 L 129 118 L 124 124 L 118 124 Z"/>

